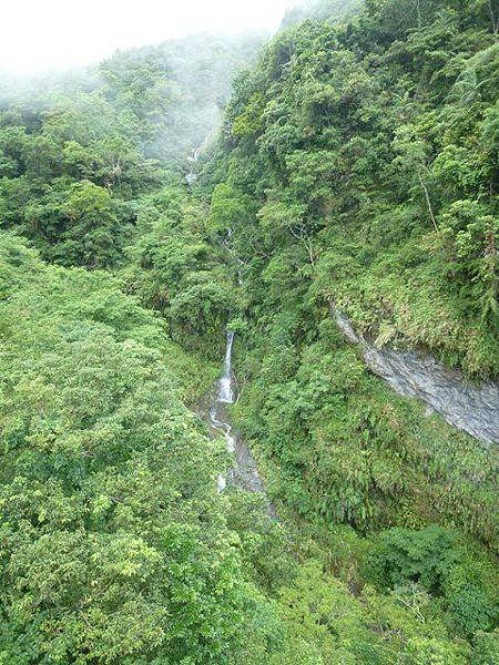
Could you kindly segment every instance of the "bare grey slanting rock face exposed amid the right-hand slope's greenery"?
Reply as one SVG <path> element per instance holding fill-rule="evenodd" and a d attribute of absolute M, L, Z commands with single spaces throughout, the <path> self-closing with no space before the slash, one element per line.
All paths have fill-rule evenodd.
<path fill-rule="evenodd" d="M 366 365 L 405 397 L 417 397 L 449 424 L 483 443 L 499 443 L 499 385 L 473 386 L 461 372 L 448 369 L 418 351 L 377 348 L 357 334 L 348 318 L 332 303 L 332 314 L 346 339 L 358 345 Z"/>

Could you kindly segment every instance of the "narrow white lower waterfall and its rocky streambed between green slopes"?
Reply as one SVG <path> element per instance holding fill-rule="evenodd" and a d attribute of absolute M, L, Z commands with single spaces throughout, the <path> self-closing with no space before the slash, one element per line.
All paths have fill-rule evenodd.
<path fill-rule="evenodd" d="M 274 507 L 268 501 L 265 484 L 259 477 L 258 468 L 249 448 L 233 431 L 228 405 L 236 400 L 234 381 L 232 375 L 232 349 L 234 345 L 234 332 L 227 331 L 227 342 L 222 375 L 216 385 L 215 399 L 210 409 L 210 426 L 215 432 L 223 434 L 227 450 L 233 457 L 233 464 L 226 470 L 225 475 L 218 477 L 218 491 L 223 492 L 227 483 L 242 488 L 248 492 L 262 492 L 267 498 L 268 512 L 275 516 Z"/>

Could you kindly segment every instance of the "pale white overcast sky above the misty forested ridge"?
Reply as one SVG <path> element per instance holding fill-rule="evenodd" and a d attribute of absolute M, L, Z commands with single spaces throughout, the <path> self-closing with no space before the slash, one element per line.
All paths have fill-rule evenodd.
<path fill-rule="evenodd" d="M 0 71 L 91 64 L 193 32 L 275 30 L 299 0 L 0 0 Z"/>

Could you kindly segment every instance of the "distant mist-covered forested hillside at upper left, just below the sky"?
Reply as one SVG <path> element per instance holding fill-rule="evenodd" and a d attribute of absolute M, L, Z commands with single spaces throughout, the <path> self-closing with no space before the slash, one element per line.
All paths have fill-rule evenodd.
<path fill-rule="evenodd" d="M 118 52 L 81 80 L 0 78 L 0 227 L 50 262 L 122 263 L 133 204 L 207 140 L 261 41 L 198 35 Z"/>

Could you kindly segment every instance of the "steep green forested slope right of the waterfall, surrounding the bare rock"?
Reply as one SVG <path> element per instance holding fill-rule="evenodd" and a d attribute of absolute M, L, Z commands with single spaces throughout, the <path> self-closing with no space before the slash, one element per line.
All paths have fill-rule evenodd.
<path fill-rule="evenodd" d="M 369 375 L 328 307 L 497 376 L 493 8 L 338 9 L 292 12 L 235 82 L 200 187 L 241 278 L 235 423 L 320 559 L 279 592 L 269 662 L 493 663 L 497 449 Z"/>

